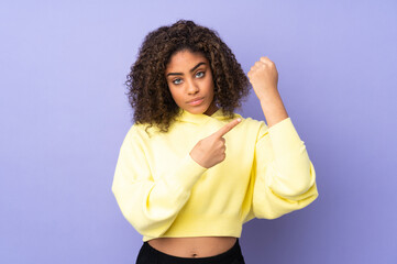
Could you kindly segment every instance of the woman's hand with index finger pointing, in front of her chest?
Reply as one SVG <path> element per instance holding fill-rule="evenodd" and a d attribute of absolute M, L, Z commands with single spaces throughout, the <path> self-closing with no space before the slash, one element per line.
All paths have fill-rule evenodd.
<path fill-rule="evenodd" d="M 225 140 L 222 138 L 241 122 L 241 119 L 234 119 L 227 123 L 213 134 L 200 140 L 190 151 L 191 158 L 199 165 L 210 168 L 225 158 Z"/>

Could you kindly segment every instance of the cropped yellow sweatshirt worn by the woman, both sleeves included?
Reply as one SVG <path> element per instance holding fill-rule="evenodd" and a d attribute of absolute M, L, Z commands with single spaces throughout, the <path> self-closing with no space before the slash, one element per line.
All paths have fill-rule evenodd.
<path fill-rule="evenodd" d="M 120 147 L 112 193 L 124 218 L 154 238 L 235 237 L 253 218 L 275 219 L 318 197 L 316 173 L 290 118 L 251 118 L 229 131 L 225 160 L 206 168 L 190 151 L 233 119 L 179 109 L 168 133 L 134 123 Z"/>

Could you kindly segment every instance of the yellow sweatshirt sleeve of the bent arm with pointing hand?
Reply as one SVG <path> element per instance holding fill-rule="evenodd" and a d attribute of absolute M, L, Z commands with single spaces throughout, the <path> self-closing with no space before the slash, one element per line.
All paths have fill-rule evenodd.
<path fill-rule="evenodd" d="M 158 238 L 173 224 L 207 168 L 187 153 L 177 167 L 154 180 L 142 140 L 131 131 L 120 147 L 111 189 L 133 228 L 142 235 Z"/>

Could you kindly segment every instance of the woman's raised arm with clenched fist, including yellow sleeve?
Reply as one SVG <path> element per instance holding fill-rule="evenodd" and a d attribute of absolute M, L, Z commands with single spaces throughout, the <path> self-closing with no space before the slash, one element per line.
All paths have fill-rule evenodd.
<path fill-rule="evenodd" d="M 278 74 L 267 57 L 249 73 L 268 125 L 261 121 L 253 165 L 253 201 L 246 220 L 274 219 L 301 209 L 318 196 L 315 167 L 277 90 Z"/>

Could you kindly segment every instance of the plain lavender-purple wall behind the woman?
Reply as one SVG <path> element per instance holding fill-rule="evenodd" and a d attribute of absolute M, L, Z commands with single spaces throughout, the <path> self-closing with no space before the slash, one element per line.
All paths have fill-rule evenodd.
<path fill-rule="evenodd" d="M 396 1 L 1 1 L 0 262 L 134 263 L 111 193 L 143 37 L 191 19 L 275 62 L 319 198 L 244 224 L 246 263 L 397 263 Z M 252 90 L 243 117 L 265 120 Z"/>

